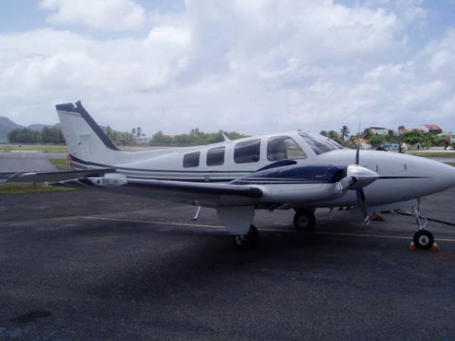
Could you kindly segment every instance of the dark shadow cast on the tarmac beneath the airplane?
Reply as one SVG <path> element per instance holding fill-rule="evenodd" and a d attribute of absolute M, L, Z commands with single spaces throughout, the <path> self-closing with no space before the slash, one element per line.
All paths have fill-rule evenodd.
<path fill-rule="evenodd" d="M 73 230 L 76 234 L 73 237 L 78 234 L 82 238 L 101 240 L 103 236 L 122 239 L 133 235 L 134 239 L 140 238 L 144 244 L 147 244 L 147 240 L 150 242 L 149 249 L 144 249 L 144 246 L 134 249 L 134 242 L 125 247 L 130 242 L 127 238 L 124 241 L 124 249 L 127 251 L 116 251 L 117 256 L 122 258 L 120 264 L 109 268 L 97 284 L 86 288 L 87 291 L 100 299 L 153 301 L 167 300 L 174 293 L 185 296 L 185 293 L 189 295 L 189 291 L 192 291 L 193 294 L 195 286 L 201 288 L 200 293 L 203 295 L 204 291 L 210 291 L 213 286 L 229 288 L 239 285 L 235 278 L 250 276 L 310 281 L 314 285 L 330 281 L 331 284 L 342 285 L 343 282 L 317 276 L 315 278 L 309 274 L 346 270 L 368 273 L 380 266 L 387 266 L 390 261 L 387 261 L 386 254 L 394 249 L 397 256 L 397 243 L 390 239 L 346 238 L 289 233 L 284 230 L 264 232 L 259 249 L 239 252 L 228 241 L 227 232 L 175 230 L 147 228 L 139 224 L 128 224 L 125 228 L 120 223 L 106 227 L 91 226 L 90 229 L 80 229 L 78 232 Z M 156 239 L 160 242 L 155 243 Z M 169 240 L 165 241 L 166 239 Z M 187 242 L 188 239 L 191 242 Z M 156 254 L 156 244 L 166 248 L 166 243 L 171 245 L 169 251 L 159 251 Z M 402 240 L 401 244 L 402 253 L 408 252 Z"/>

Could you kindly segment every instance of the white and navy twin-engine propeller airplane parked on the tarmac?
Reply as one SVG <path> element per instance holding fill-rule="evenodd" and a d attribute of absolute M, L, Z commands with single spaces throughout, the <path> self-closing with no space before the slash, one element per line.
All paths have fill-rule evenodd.
<path fill-rule="evenodd" d="M 432 247 L 420 197 L 455 185 L 455 168 L 426 158 L 356 151 L 301 131 L 186 148 L 125 152 L 80 102 L 56 105 L 77 171 L 16 173 L 4 182 L 47 181 L 216 209 L 240 249 L 254 249 L 255 210 L 293 209 L 298 230 L 314 228 L 318 207 L 370 212 L 411 207 L 414 244 Z M 198 209 L 198 212 L 199 212 Z M 196 217 L 193 219 L 197 219 Z"/>

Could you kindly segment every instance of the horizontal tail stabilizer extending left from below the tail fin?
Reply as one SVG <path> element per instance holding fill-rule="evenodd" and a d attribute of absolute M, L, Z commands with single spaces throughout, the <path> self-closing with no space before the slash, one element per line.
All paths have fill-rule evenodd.
<path fill-rule="evenodd" d="M 59 183 L 61 181 L 102 176 L 105 173 L 114 172 L 115 168 L 99 168 L 85 171 L 0 173 L 0 183 Z"/>

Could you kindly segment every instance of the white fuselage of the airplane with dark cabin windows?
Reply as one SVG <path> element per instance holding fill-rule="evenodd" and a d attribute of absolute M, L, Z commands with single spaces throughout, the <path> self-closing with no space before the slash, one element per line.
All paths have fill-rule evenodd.
<path fill-rule="evenodd" d="M 325 163 L 336 166 L 355 163 L 354 150 L 337 147 L 328 140 L 324 142 L 322 136 L 299 131 L 255 136 L 208 146 L 166 148 L 137 153 L 117 151 L 111 153 L 102 162 L 82 160 L 77 157 L 77 153 L 73 153 L 73 163 L 76 168 L 113 166 L 118 172 L 127 175 L 127 178 L 228 182 L 277 161 L 278 152 L 273 151 L 269 144 L 286 136 L 289 138 L 288 144 L 289 141 L 295 142 L 288 148 L 287 158 L 292 156 L 289 154 L 295 153 L 296 149 L 300 148 L 300 151 L 294 155 L 299 158 L 299 163 Z M 319 144 L 321 141 L 327 146 L 321 146 Z M 239 146 L 242 144 L 252 144 L 251 151 L 255 155 L 245 158 L 245 155 L 242 155 L 244 151 L 239 151 Z M 218 156 L 215 158 L 213 158 L 213 151 L 218 151 Z M 223 151 L 223 160 L 220 160 L 221 151 Z M 417 156 L 385 151 L 360 151 L 360 165 L 380 175 L 378 180 L 365 188 L 368 205 L 385 205 L 411 200 L 455 185 L 455 168 Z M 283 184 L 280 187 L 289 193 L 293 185 Z M 297 199 L 299 186 L 295 185 L 294 190 Z M 280 188 L 277 187 L 275 191 L 274 197 L 278 197 Z M 293 204 L 298 205 L 297 202 Z M 334 200 L 314 202 L 312 206 L 333 207 L 356 204 L 355 192 L 349 191 Z"/>

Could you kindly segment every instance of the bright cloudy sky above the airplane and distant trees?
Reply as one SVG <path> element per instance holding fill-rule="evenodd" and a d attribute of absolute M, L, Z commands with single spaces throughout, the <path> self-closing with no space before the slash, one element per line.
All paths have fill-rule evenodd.
<path fill-rule="evenodd" d="M 455 131 L 455 0 L 0 0 L 0 116 L 181 134 Z"/>

